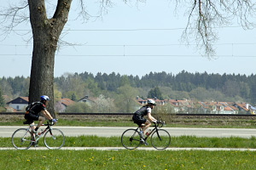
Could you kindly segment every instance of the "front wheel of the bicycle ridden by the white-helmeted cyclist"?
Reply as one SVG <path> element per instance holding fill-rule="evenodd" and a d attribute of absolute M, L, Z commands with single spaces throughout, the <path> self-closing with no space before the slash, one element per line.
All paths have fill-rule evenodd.
<path fill-rule="evenodd" d="M 171 143 L 171 136 L 164 129 L 159 129 L 158 131 L 154 131 L 154 133 L 151 136 L 151 144 L 156 150 L 165 150 L 170 143 Z"/>

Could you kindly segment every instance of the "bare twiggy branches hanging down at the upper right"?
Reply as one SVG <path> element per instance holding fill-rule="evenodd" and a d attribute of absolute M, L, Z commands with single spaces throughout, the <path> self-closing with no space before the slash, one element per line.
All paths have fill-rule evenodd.
<path fill-rule="evenodd" d="M 176 3 L 191 6 L 187 0 L 176 0 Z M 195 0 L 187 9 L 187 14 L 188 23 L 183 31 L 183 40 L 189 42 L 194 37 L 197 48 L 211 59 L 215 54 L 214 42 L 218 40 L 216 27 L 230 26 L 237 19 L 244 29 L 253 29 L 256 3 L 252 0 Z"/>

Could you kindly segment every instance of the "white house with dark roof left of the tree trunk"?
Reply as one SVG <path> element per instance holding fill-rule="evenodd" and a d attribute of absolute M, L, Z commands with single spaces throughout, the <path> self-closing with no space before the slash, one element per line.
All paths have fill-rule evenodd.
<path fill-rule="evenodd" d="M 28 105 L 28 97 L 18 97 L 6 103 L 9 107 L 16 111 L 24 111 Z"/>

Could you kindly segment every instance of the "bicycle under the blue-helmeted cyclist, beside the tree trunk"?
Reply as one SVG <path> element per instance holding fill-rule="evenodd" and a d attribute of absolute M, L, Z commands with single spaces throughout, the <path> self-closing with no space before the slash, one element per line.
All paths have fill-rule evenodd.
<path fill-rule="evenodd" d="M 44 145 L 48 149 L 61 149 L 65 143 L 65 136 L 60 129 L 51 127 L 54 124 L 53 122 L 43 124 L 42 126 L 46 127 L 37 136 L 32 133 L 32 127 L 37 125 L 30 124 L 27 128 L 19 128 L 12 135 L 12 144 L 17 150 L 27 150 L 32 144 L 37 144 L 38 140 L 44 136 Z"/>

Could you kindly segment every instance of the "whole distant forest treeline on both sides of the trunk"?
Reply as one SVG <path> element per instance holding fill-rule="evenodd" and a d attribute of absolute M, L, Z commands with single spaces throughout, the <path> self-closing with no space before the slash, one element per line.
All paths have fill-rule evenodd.
<path fill-rule="evenodd" d="M 143 77 L 120 75 L 119 73 L 89 72 L 65 74 L 55 77 L 55 89 L 62 97 L 73 96 L 78 99 L 84 95 L 98 96 L 104 94 L 111 98 L 119 93 L 118 89 L 129 85 L 136 88 L 138 96 L 147 98 L 152 88 L 159 87 L 163 98 L 177 99 L 215 99 L 243 100 L 256 104 L 256 75 L 189 73 L 181 71 L 172 73 L 150 72 Z M 28 96 L 29 77 L 2 77 L 0 88 L 2 94 L 9 96 Z"/>

